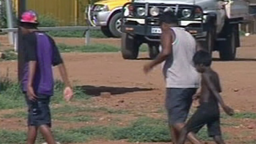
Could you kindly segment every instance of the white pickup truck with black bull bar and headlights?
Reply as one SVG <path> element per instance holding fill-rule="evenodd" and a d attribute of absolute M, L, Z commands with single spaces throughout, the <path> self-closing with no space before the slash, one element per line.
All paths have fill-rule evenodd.
<path fill-rule="evenodd" d="M 159 53 L 159 13 L 175 11 L 184 27 L 210 53 L 219 51 L 221 60 L 234 60 L 240 47 L 239 24 L 249 17 L 249 0 L 134 0 L 123 6 L 122 55 L 136 59 L 142 43 L 150 58 Z"/>

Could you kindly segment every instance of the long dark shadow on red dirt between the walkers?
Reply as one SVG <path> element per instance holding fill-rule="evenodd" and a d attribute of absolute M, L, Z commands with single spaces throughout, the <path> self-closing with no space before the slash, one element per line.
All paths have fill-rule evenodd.
<path fill-rule="evenodd" d="M 149 88 L 125 88 L 125 87 L 107 87 L 107 86 L 91 86 L 84 85 L 80 86 L 83 89 L 83 92 L 89 96 L 100 96 L 101 92 L 109 92 L 111 95 L 120 95 L 125 93 L 137 92 L 137 91 L 150 91 L 153 89 Z"/>

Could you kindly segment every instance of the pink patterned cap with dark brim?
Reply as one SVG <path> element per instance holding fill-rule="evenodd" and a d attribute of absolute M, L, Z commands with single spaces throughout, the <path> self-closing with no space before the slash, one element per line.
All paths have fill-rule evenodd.
<path fill-rule="evenodd" d="M 31 23 L 31 24 L 39 24 L 38 22 L 38 14 L 33 10 L 28 10 L 21 15 L 20 22 Z"/>

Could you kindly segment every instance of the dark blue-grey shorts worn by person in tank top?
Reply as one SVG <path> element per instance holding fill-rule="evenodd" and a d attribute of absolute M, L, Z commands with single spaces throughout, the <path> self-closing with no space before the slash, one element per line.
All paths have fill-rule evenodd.
<path fill-rule="evenodd" d="M 192 97 L 197 89 L 166 89 L 166 110 L 170 125 L 185 123 L 189 109 L 192 104 Z"/>

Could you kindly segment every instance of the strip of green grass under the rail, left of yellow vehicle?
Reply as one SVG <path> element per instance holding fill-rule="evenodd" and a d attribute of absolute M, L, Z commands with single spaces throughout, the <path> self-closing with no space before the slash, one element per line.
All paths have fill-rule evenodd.
<path fill-rule="evenodd" d="M 84 31 L 76 30 L 76 31 L 49 31 L 48 34 L 54 37 L 85 37 Z M 101 30 L 90 30 L 91 38 L 107 38 Z"/>

